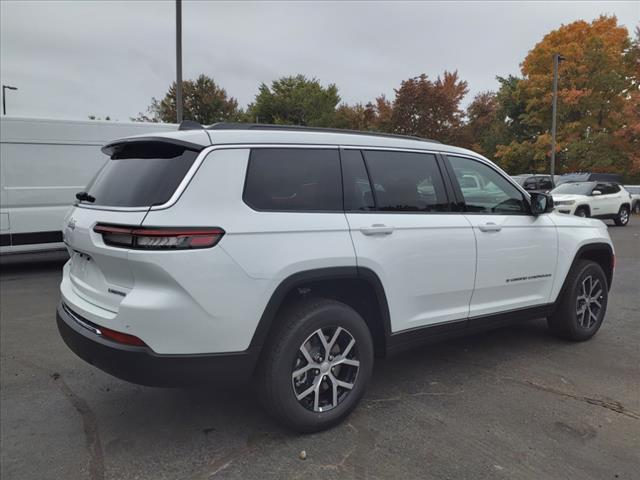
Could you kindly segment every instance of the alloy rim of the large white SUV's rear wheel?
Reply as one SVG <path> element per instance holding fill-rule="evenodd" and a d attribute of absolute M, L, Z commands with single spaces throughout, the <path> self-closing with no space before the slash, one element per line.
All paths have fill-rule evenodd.
<path fill-rule="evenodd" d="M 293 392 L 306 409 L 326 412 L 353 390 L 359 369 L 353 335 L 342 327 L 319 328 L 298 349 L 291 373 Z"/>

